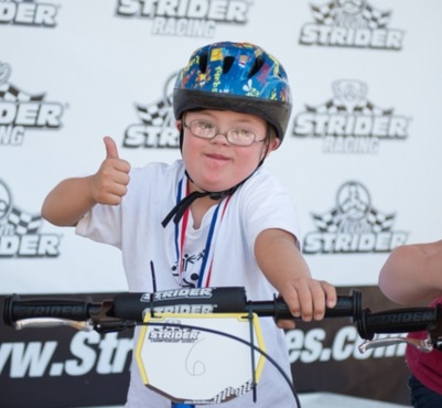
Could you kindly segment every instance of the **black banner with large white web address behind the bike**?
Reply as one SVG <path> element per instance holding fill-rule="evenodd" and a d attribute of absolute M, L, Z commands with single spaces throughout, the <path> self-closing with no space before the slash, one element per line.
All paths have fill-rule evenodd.
<path fill-rule="evenodd" d="M 348 293 L 348 289 L 338 288 L 338 292 Z M 376 287 L 355 289 L 362 292 L 364 308 L 374 311 L 395 308 Z M 116 294 L 63 294 L 58 298 L 95 303 L 114 299 Z M 55 294 L 47 297 L 57 298 Z M 0 311 L 6 316 L 4 300 L 0 298 Z M 4 322 L 0 326 L 2 407 L 60 408 L 125 402 L 133 353 L 131 329 L 99 334 L 71 328 L 15 331 Z M 362 353 L 358 346 L 363 340 L 351 318 L 298 322 L 295 330 L 285 332 L 285 337 L 298 393 L 330 391 L 407 402 L 403 345 Z"/>

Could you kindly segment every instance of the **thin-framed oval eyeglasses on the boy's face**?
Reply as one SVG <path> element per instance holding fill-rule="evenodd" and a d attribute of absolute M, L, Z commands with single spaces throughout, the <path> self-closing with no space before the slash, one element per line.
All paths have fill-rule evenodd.
<path fill-rule="evenodd" d="M 257 136 L 252 131 L 244 128 L 231 128 L 225 133 L 222 133 L 214 124 L 204 119 L 192 120 L 188 125 L 183 121 L 183 125 L 197 138 L 213 139 L 218 135 L 223 135 L 230 144 L 235 146 L 251 146 L 254 143 L 261 143 L 266 140 L 256 140 Z"/>

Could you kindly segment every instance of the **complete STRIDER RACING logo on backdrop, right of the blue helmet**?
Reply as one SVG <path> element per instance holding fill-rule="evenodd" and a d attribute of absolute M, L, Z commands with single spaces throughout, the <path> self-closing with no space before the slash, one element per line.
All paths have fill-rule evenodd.
<path fill-rule="evenodd" d="M 294 118 L 293 137 L 322 140 L 324 153 L 377 153 L 381 140 L 405 140 L 410 118 L 367 98 L 362 80 L 339 79 L 322 105 L 305 105 Z"/>

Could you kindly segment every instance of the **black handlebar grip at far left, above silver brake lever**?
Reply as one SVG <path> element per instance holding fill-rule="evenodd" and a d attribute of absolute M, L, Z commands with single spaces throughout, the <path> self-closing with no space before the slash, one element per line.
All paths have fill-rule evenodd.
<path fill-rule="evenodd" d="M 4 301 L 3 321 L 12 326 L 18 320 L 33 318 L 58 318 L 75 321 L 89 319 L 88 303 L 84 300 L 67 299 L 26 299 L 18 294 L 8 297 Z"/>

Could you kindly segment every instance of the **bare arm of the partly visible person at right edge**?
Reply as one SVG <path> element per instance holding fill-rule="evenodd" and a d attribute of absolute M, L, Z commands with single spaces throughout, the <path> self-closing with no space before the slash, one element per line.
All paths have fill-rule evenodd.
<path fill-rule="evenodd" d="M 379 288 L 403 304 L 442 296 L 442 240 L 396 248 L 380 270 Z"/>

